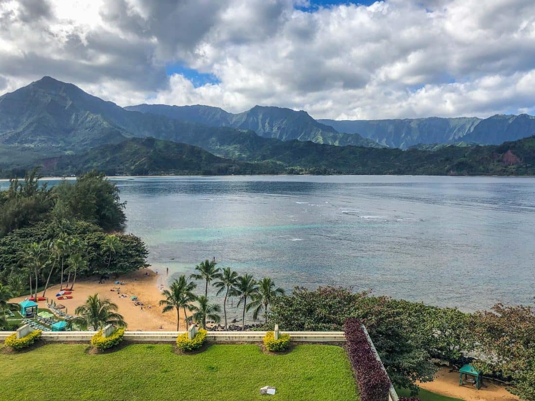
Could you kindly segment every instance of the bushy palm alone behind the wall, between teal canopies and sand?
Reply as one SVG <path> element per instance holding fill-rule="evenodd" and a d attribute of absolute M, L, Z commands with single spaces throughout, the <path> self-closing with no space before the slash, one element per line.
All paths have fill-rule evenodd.
<path fill-rule="evenodd" d="M 78 317 L 72 320 L 83 329 L 93 326 L 100 330 L 108 325 L 126 327 L 123 315 L 117 313 L 119 307 L 109 298 L 99 298 L 98 294 L 87 297 L 86 303 L 77 307 L 74 311 Z"/>

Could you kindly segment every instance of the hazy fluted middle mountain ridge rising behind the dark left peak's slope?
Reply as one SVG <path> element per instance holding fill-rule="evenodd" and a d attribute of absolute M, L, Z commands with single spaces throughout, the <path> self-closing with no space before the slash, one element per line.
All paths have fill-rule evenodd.
<path fill-rule="evenodd" d="M 283 107 L 254 106 L 239 114 L 232 114 L 219 107 L 168 106 L 165 104 L 140 104 L 127 106 L 126 110 L 164 115 L 165 117 L 197 122 L 212 127 L 232 127 L 253 130 L 265 138 L 282 141 L 312 141 L 330 145 L 355 145 L 370 148 L 384 148 L 375 141 L 358 134 L 340 133 L 333 127 L 314 120 L 305 111 L 295 111 Z"/>

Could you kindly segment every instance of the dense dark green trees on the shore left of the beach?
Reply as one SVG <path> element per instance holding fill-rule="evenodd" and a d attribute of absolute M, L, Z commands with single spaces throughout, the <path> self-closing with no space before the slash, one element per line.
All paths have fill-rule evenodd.
<path fill-rule="evenodd" d="M 118 275 L 146 267 L 148 251 L 134 235 L 120 230 L 126 217 L 116 184 L 100 173 L 83 174 L 58 186 L 41 186 L 34 170 L 0 191 L 0 283 L 20 295 L 44 284 L 72 288 L 77 275 Z M 109 249 L 109 237 L 116 249 Z M 72 281 L 71 281 L 72 279 Z"/>

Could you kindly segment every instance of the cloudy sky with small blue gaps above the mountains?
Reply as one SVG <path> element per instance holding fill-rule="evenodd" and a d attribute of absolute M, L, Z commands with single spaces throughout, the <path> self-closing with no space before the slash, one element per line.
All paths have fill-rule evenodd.
<path fill-rule="evenodd" d="M 533 0 L 0 0 L 0 94 L 314 118 L 535 114 Z"/>

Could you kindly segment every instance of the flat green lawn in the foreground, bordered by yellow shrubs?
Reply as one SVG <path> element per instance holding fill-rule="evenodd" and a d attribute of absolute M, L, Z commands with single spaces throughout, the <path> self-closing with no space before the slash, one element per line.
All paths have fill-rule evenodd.
<path fill-rule="evenodd" d="M 48 344 L 0 355 L 2 399 L 203 401 L 357 400 L 356 384 L 342 348 L 297 345 L 266 355 L 257 345 L 211 345 L 177 355 L 172 345 L 132 344 L 89 355 L 87 345 Z M 261 396 L 264 385 L 277 388 Z"/>

